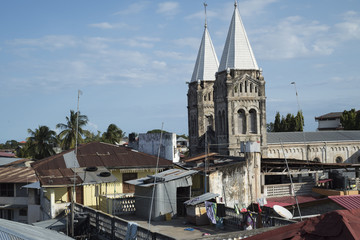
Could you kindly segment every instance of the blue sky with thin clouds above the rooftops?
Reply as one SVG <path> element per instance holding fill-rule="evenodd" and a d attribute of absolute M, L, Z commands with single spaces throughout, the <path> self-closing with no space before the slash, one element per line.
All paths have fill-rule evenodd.
<path fill-rule="evenodd" d="M 234 2 L 207 0 L 221 58 Z M 360 109 L 360 1 L 239 1 L 266 81 L 267 122 L 277 111 L 315 116 Z M 204 29 L 203 1 L 0 3 L 0 143 L 55 130 L 76 110 L 88 130 L 187 134 L 187 85 Z"/>

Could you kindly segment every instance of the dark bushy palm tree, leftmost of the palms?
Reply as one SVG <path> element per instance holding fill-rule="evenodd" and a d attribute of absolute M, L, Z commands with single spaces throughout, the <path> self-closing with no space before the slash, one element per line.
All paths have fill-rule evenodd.
<path fill-rule="evenodd" d="M 55 154 L 56 132 L 47 126 L 39 126 L 35 131 L 28 129 L 30 137 L 27 138 L 27 155 L 34 159 L 42 159 Z"/>

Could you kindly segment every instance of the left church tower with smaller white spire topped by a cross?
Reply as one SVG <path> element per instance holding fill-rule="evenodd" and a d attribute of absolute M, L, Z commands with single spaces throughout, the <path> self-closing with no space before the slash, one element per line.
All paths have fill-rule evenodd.
<path fill-rule="evenodd" d="M 190 155 L 204 152 L 206 141 L 215 142 L 213 86 L 219 62 L 206 22 L 188 89 Z"/>

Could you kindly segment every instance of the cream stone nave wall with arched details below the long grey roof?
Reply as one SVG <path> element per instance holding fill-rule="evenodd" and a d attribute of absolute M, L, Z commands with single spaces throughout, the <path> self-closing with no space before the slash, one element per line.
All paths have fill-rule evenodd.
<path fill-rule="evenodd" d="M 316 142 L 285 143 L 284 152 L 288 159 L 320 161 L 323 163 L 360 163 L 360 142 Z M 269 158 L 284 158 L 281 145 L 269 144 Z"/>

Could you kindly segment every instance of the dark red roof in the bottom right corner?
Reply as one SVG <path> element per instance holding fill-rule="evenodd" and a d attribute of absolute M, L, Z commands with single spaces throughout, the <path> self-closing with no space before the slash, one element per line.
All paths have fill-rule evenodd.
<path fill-rule="evenodd" d="M 360 209 L 337 210 L 257 234 L 247 240 L 360 239 Z"/>

